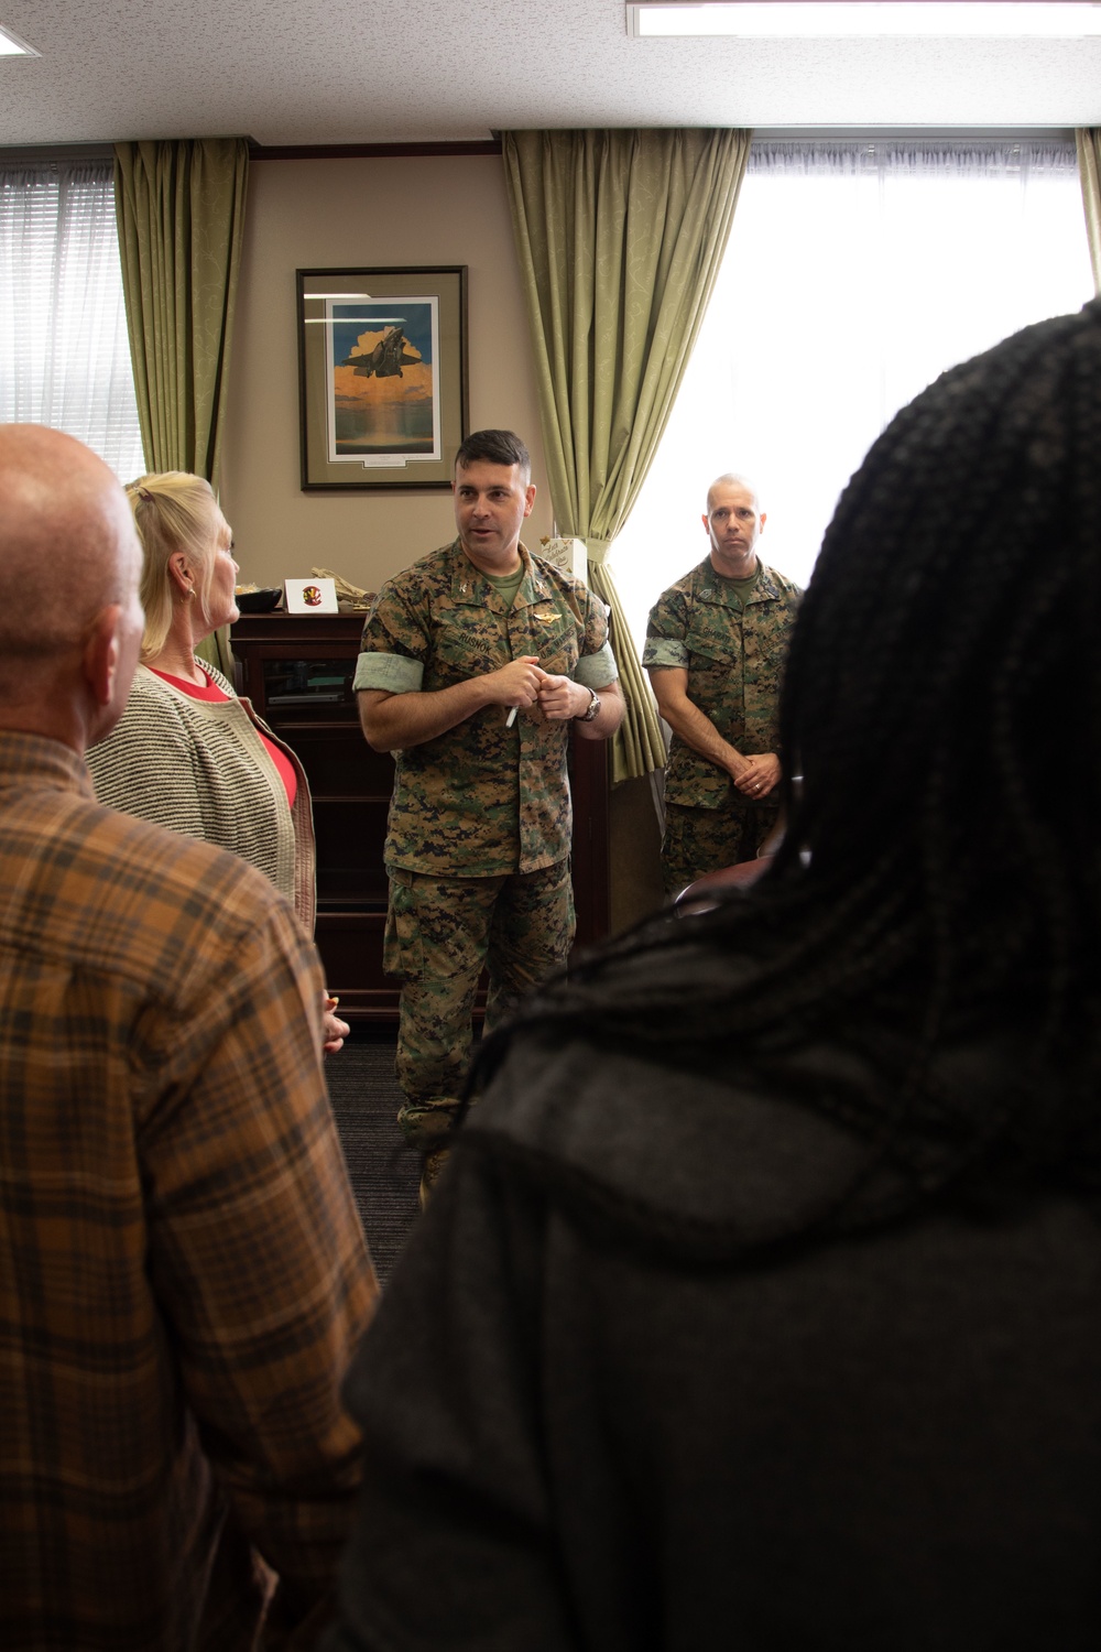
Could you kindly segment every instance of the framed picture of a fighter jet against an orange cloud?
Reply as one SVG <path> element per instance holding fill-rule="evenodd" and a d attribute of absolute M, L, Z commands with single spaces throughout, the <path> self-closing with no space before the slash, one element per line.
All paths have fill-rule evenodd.
<path fill-rule="evenodd" d="M 467 434 L 467 271 L 299 269 L 302 489 L 447 487 Z"/>

